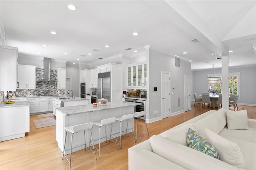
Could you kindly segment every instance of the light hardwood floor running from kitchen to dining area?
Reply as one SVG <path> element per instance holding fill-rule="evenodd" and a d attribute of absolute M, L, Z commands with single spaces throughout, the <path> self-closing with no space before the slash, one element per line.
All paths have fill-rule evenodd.
<path fill-rule="evenodd" d="M 191 111 L 148 124 L 150 136 L 160 134 L 209 110 L 206 106 L 194 106 L 194 102 L 191 103 L 191 107 Z M 246 109 L 248 118 L 256 119 L 256 107 L 238 105 L 238 108 Z M 62 160 L 62 152 L 56 142 L 56 126 L 37 129 L 33 123 L 33 120 L 37 119 L 39 118 L 36 115 L 30 116 L 30 132 L 26 133 L 24 138 L 0 142 L 1 170 L 68 169 L 68 161 Z M 145 123 L 139 121 L 139 126 L 145 126 Z M 114 142 L 102 142 L 100 159 L 96 151 L 98 160 L 94 159 L 94 154 L 88 149 L 74 152 L 71 169 L 128 169 L 128 148 L 148 138 L 147 132 L 138 130 L 138 142 L 134 142 L 130 135 L 124 136 L 122 149 L 119 150 Z M 98 144 L 96 146 L 98 147 Z"/>

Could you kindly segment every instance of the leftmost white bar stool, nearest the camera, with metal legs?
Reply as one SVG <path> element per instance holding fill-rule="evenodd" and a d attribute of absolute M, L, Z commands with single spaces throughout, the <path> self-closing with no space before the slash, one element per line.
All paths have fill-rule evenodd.
<path fill-rule="evenodd" d="M 65 146 L 66 146 L 66 141 L 67 141 L 67 133 L 68 132 L 71 132 L 72 135 L 71 135 L 71 143 L 70 143 L 70 158 L 68 160 L 69 162 L 69 169 L 71 168 L 71 155 L 72 155 L 72 142 L 73 142 L 73 135 L 74 133 L 77 133 L 77 132 L 82 132 L 84 131 L 84 148 L 85 148 L 85 151 L 86 151 L 86 139 L 85 139 L 85 131 L 89 130 L 90 132 L 90 142 L 89 142 L 89 146 L 88 148 L 94 153 L 94 156 L 95 156 L 95 160 L 97 160 L 97 157 L 96 157 L 96 154 L 95 154 L 95 149 L 94 149 L 94 144 L 93 144 L 93 140 L 92 140 L 92 123 L 84 123 L 84 124 L 81 124 L 81 125 L 74 125 L 74 126 L 70 126 L 70 127 L 65 127 L 65 130 L 66 130 L 66 137 L 65 137 L 65 143 L 64 143 L 64 151 L 62 152 L 62 159 L 63 157 L 65 156 L 65 158 L 68 160 L 67 156 L 64 154 L 64 152 L 66 151 L 65 150 Z M 90 148 L 91 146 L 91 141 L 92 141 L 92 147 L 93 147 L 93 150 Z"/>

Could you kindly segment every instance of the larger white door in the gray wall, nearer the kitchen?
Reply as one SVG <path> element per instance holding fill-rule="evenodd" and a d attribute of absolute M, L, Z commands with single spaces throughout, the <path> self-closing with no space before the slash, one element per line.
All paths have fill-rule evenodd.
<path fill-rule="evenodd" d="M 170 72 L 161 71 L 161 111 L 162 111 L 162 119 L 166 117 L 170 117 L 171 109 L 171 101 L 170 101 Z"/>

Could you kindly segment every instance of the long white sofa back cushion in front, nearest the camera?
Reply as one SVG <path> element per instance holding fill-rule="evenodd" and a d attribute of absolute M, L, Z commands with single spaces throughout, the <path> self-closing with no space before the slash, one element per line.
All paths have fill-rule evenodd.
<path fill-rule="evenodd" d="M 221 170 L 221 169 L 238 169 L 235 166 L 227 164 L 221 160 L 213 158 L 202 152 L 176 143 L 161 136 L 150 137 L 150 143 L 153 152 L 170 160 L 186 169 L 196 170 Z"/>

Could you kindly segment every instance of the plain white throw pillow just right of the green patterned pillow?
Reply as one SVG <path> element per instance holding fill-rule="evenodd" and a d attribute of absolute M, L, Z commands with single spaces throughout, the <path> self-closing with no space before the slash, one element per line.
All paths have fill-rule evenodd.
<path fill-rule="evenodd" d="M 220 160 L 237 168 L 244 168 L 244 158 L 239 146 L 220 135 L 205 129 L 206 140 L 208 140 L 217 150 Z"/>

